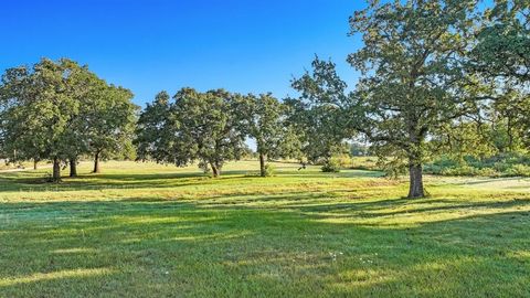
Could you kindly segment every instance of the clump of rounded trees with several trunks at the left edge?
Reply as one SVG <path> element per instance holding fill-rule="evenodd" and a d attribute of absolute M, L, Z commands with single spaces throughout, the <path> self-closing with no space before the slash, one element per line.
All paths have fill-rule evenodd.
<path fill-rule="evenodd" d="M 82 156 L 94 172 L 106 156 L 131 150 L 137 106 L 130 91 L 108 85 L 71 60 L 42 60 L 7 70 L 0 85 L 0 145 L 4 158 L 51 160 L 54 181 Z"/>

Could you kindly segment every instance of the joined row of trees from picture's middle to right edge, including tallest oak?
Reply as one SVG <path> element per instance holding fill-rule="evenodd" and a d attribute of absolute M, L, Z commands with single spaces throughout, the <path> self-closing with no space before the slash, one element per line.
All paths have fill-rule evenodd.
<path fill-rule="evenodd" d="M 527 0 L 488 9 L 477 0 L 370 0 L 350 26 L 363 41 L 348 56 L 361 73 L 353 91 L 317 57 L 293 82 L 299 96 L 282 104 L 222 91 L 183 89 L 173 104 L 163 95 L 140 117 L 140 156 L 179 166 L 198 159 L 216 175 L 250 136 L 264 173 L 265 156 L 328 163 L 361 137 L 389 171 L 407 170 L 409 196 L 420 198 L 423 164 L 436 155 L 528 148 Z"/>

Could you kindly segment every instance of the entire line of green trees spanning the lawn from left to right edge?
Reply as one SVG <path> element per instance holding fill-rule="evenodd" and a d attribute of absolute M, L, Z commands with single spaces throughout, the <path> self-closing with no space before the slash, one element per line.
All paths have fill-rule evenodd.
<path fill-rule="evenodd" d="M 333 170 L 333 157 L 362 149 L 389 173 L 409 173 L 409 198 L 425 195 L 424 164 L 439 155 L 528 153 L 528 0 L 496 0 L 486 9 L 478 0 L 367 2 L 350 18 L 351 35 L 362 39 L 347 58 L 360 74 L 357 85 L 316 57 L 293 81 L 297 96 L 283 100 L 182 88 L 172 97 L 159 93 L 137 115 L 129 91 L 72 61 L 8 70 L 0 87 L 2 151 L 52 160 L 57 180 L 61 162 L 75 168 L 80 156 L 92 155 L 97 172 L 102 155 L 131 143 L 138 160 L 199 162 L 213 177 L 242 158 L 248 138 L 262 175 L 271 172 L 267 160 Z M 359 139 L 370 148 L 349 148 Z"/>

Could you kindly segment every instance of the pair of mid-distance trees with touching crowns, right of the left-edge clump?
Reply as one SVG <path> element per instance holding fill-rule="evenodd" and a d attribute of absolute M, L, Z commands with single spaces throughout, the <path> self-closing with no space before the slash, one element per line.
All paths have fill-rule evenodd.
<path fill-rule="evenodd" d="M 245 140 L 256 140 L 261 174 L 267 158 L 297 155 L 296 134 L 285 117 L 286 106 L 271 94 L 232 94 L 223 89 L 200 93 L 183 88 L 170 97 L 157 95 L 141 113 L 135 143 L 138 158 L 179 167 L 195 161 L 213 177 L 227 160 L 246 152 Z"/>

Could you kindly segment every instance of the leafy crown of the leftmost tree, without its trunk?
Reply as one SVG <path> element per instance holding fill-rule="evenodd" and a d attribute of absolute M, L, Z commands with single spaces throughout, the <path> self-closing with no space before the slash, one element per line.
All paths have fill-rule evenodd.
<path fill-rule="evenodd" d="M 81 106 L 70 83 L 80 70 L 67 60 L 42 60 L 32 68 L 6 71 L 1 86 L 2 147 L 10 159 L 67 157 L 68 127 Z"/>

